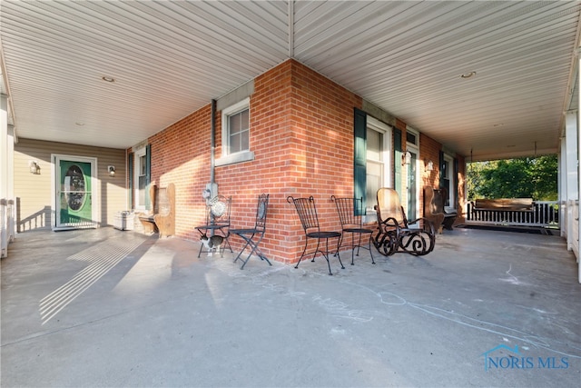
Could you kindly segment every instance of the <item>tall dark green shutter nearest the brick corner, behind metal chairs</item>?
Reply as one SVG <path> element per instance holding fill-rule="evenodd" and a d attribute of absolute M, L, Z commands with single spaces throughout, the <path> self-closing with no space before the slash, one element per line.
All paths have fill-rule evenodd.
<path fill-rule="evenodd" d="M 367 203 L 367 114 L 355 108 L 353 120 L 353 196 L 363 198 L 363 212 Z M 357 214 L 362 215 L 362 214 Z"/>

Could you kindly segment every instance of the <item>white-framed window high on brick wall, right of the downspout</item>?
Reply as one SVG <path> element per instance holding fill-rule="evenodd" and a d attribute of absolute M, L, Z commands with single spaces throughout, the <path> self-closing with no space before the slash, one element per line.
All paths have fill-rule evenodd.
<path fill-rule="evenodd" d="M 222 157 L 217 165 L 254 159 L 250 151 L 250 98 L 222 110 Z"/>

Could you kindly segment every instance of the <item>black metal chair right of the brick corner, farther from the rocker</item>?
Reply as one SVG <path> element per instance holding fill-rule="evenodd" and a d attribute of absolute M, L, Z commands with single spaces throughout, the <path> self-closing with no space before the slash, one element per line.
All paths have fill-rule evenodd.
<path fill-rule="evenodd" d="M 302 224 L 302 228 L 305 231 L 305 248 L 302 250 L 302 254 L 300 255 L 299 262 L 295 265 L 295 268 L 299 267 L 300 260 L 305 256 L 305 252 L 307 251 L 307 245 L 309 244 L 309 239 L 317 239 L 317 248 L 313 252 L 308 254 L 312 254 L 311 262 L 315 261 L 315 256 L 318 252 L 323 255 L 325 260 L 327 260 L 327 265 L 329 266 L 329 274 L 333 274 L 330 271 L 330 263 L 329 263 L 329 239 L 330 238 L 337 238 L 340 239 L 341 234 L 340 232 L 327 232 L 321 231 L 319 226 L 319 218 L 317 216 L 317 208 L 315 207 L 315 200 L 313 199 L 312 195 L 309 198 L 293 198 L 291 195 L 287 197 L 287 202 L 289 204 L 294 204 L 295 208 L 297 209 L 297 214 L 299 214 L 300 224 Z M 325 240 L 325 251 L 321 251 L 320 241 Z M 338 241 L 339 242 L 339 241 Z M 345 269 L 343 263 L 341 263 L 341 258 L 339 255 L 339 245 L 337 245 L 337 258 L 339 259 L 339 263 L 341 264 L 341 269 Z"/>

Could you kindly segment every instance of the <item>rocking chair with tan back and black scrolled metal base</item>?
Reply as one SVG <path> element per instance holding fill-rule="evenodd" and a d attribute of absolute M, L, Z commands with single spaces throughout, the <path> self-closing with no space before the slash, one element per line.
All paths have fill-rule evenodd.
<path fill-rule="evenodd" d="M 434 250 L 434 224 L 424 217 L 409 221 L 394 189 L 382 187 L 378 190 L 375 210 L 378 214 L 378 234 L 373 237 L 373 244 L 379 254 L 389 256 L 403 252 L 421 256 Z M 410 227 L 414 224 L 417 227 Z"/>

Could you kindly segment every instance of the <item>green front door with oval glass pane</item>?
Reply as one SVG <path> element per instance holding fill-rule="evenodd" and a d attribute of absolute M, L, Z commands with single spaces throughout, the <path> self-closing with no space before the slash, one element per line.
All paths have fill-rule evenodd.
<path fill-rule="evenodd" d="M 89 162 L 59 160 L 57 228 L 94 225 L 91 171 Z"/>

